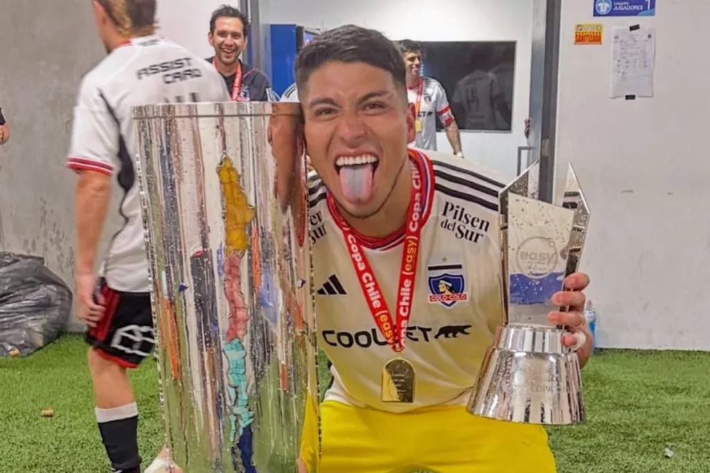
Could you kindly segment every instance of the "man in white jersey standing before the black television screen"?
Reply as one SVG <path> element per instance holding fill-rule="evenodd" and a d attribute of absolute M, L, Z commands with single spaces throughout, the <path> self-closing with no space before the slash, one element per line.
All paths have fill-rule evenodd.
<path fill-rule="evenodd" d="M 405 66 L 407 67 L 407 97 L 415 110 L 415 147 L 422 150 L 437 149 L 437 120 L 444 126 L 454 155 L 464 157 L 461 151 L 461 132 L 449 106 L 442 84 L 431 77 L 422 75 L 422 48 L 412 40 L 399 43 Z"/>

